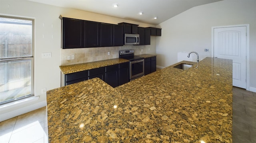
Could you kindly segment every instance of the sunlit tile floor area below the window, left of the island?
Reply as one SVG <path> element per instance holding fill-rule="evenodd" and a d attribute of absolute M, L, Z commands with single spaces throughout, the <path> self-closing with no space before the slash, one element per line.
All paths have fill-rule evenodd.
<path fill-rule="evenodd" d="M 0 143 L 48 143 L 46 107 L 0 122 Z"/>

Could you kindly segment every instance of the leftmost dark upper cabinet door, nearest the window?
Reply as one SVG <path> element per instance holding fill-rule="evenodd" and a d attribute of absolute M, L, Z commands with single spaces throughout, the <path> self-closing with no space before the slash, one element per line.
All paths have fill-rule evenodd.
<path fill-rule="evenodd" d="M 62 19 L 62 48 L 84 47 L 84 21 L 71 18 Z"/>

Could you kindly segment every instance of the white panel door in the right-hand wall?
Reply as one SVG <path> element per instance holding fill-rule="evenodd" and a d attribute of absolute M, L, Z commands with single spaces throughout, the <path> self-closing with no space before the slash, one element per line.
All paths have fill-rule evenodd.
<path fill-rule="evenodd" d="M 214 28 L 214 57 L 233 60 L 233 86 L 246 88 L 246 26 Z"/>

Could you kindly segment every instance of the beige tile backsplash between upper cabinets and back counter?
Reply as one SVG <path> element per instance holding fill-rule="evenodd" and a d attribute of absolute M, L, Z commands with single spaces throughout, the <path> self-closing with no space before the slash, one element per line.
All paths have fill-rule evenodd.
<path fill-rule="evenodd" d="M 119 47 L 61 49 L 60 65 L 73 65 L 92 61 L 114 59 L 119 57 L 119 50 L 124 49 L 134 49 L 134 55 L 140 55 L 145 54 L 148 48 L 146 45 L 124 45 Z M 108 52 L 110 52 L 110 55 L 108 55 Z M 68 60 L 68 56 L 71 55 L 75 55 L 75 59 Z"/>

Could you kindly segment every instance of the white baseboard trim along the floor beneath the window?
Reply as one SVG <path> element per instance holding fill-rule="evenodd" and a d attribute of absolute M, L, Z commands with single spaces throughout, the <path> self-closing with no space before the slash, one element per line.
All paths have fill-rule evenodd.
<path fill-rule="evenodd" d="M 19 116 L 19 115 L 22 115 L 22 114 L 25 114 L 25 113 L 28 113 L 30 111 L 33 111 L 33 110 L 36 110 L 36 109 L 39 109 L 39 108 L 42 108 L 46 106 L 46 101 L 41 101 L 41 102 L 37 102 L 35 104 L 32 104 L 30 106 L 25 106 L 23 108 L 19 108 L 17 110 L 13 110 L 13 111 L 10 111 L 10 112 L 6 112 L 4 114 L 1 114 L 0 116 L 0 122 L 1 121 L 4 121 L 6 119 L 10 119 L 10 118 L 14 118 L 16 116 Z"/>

